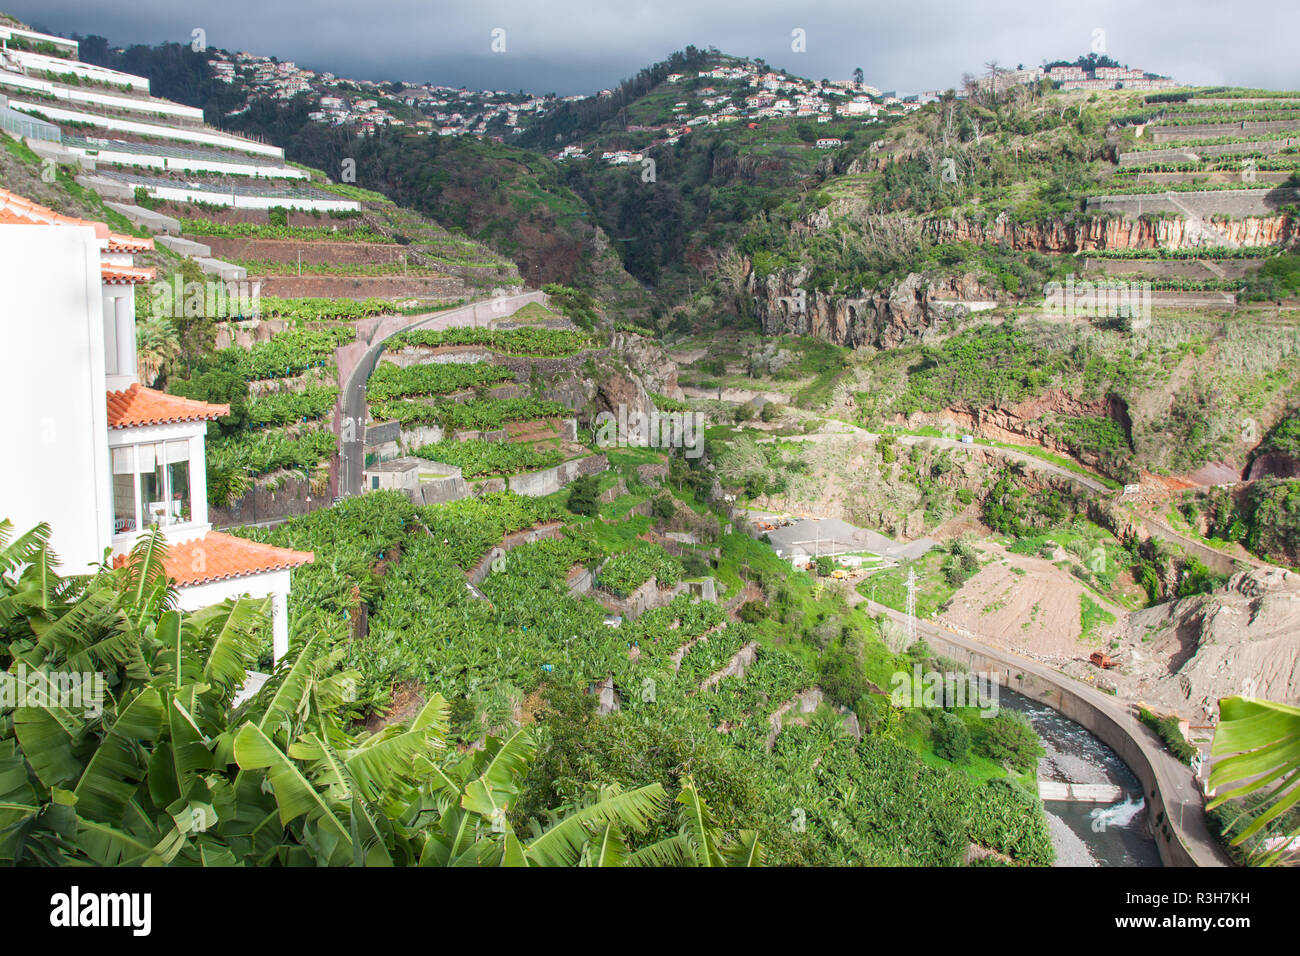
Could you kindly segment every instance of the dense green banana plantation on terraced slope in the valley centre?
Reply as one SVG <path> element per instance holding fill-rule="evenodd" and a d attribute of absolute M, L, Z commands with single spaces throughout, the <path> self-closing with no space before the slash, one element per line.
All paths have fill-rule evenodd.
<path fill-rule="evenodd" d="M 1013 864 L 1050 862 L 1045 818 L 1026 786 L 1031 769 L 1008 770 L 982 756 L 992 747 L 983 726 L 989 722 L 962 709 L 945 714 L 975 741 L 970 753 L 949 760 L 930 743 L 926 713 L 892 709 L 887 697 L 868 693 L 861 676 L 852 680 L 864 666 L 871 680 L 887 685 L 890 672 L 924 663 L 927 652 L 893 654 L 870 618 L 744 536 L 720 538 L 715 574 L 768 576 L 774 617 L 755 623 L 679 597 L 607 627 L 604 609 L 592 597 L 571 596 L 567 584 L 572 568 L 598 567 L 606 557 L 598 529 L 589 525 L 511 550 L 485 579 L 482 598 L 464 587 L 464 568 L 506 532 L 571 518 L 562 501 L 563 493 L 550 499 L 499 494 L 419 507 L 399 493 L 378 492 L 274 529 L 239 533 L 316 551 L 290 596 L 292 640 L 311 636 L 339 648 L 341 663 L 363 675 L 359 715 L 384 706 L 396 684 L 413 682 L 452 700 L 452 735 L 469 743 L 517 719 L 523 701 L 541 689 L 558 702 L 547 723 L 551 745 L 563 748 L 572 735 L 597 775 L 625 770 L 627 754 L 662 752 L 667 762 L 642 762 L 638 773 L 667 786 L 681 773 L 673 741 L 696 741 L 689 763 L 707 782 L 714 812 L 759 829 L 768 862 L 959 865 L 970 843 Z M 606 563 L 606 580 L 616 575 L 632 587 L 646 567 L 663 570 L 640 554 L 653 545 L 633 548 L 632 557 L 615 554 Z M 826 624 L 826 653 L 792 639 L 800 632 L 788 627 L 796 614 L 809 626 Z M 715 676 L 746 646 L 754 648 L 754 661 L 744 672 Z M 563 704 L 590 701 L 585 691 L 607 676 L 619 711 L 580 717 L 590 714 L 589 704 L 575 704 L 577 711 Z M 812 714 L 788 711 L 774 734 L 777 711 L 818 687 L 826 702 Z M 849 697 L 858 704 L 862 740 L 844 728 L 838 708 Z M 543 775 L 537 786 L 555 791 L 525 800 L 577 796 L 575 782 Z M 796 809 L 800 826 L 792 827 Z M 656 825 L 672 821 L 666 816 Z"/>

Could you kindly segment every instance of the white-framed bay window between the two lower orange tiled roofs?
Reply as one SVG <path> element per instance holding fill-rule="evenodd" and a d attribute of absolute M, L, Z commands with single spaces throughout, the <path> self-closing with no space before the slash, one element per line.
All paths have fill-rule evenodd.
<path fill-rule="evenodd" d="M 186 524 L 191 518 L 190 441 L 113 449 L 113 533 Z"/>

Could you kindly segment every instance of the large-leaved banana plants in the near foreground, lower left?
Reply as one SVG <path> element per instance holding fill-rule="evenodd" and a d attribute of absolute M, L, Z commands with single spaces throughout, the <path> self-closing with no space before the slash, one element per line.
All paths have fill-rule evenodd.
<path fill-rule="evenodd" d="M 450 706 L 433 695 L 406 723 L 351 732 L 360 675 L 324 619 L 298 619 L 295 650 L 256 696 L 268 601 L 174 607 L 164 538 L 121 567 L 62 579 L 44 525 L 0 523 L 0 862 L 38 865 L 722 865 L 758 862 L 728 842 L 688 784 L 682 832 L 633 848 L 668 805 L 659 784 L 608 787 L 526 821 L 510 808 L 536 747 L 528 731 L 451 754 Z M 103 678 L 94 708 L 32 693 L 77 669 Z M 39 675 L 39 676 L 35 676 Z M 51 684 L 44 684 L 51 685 Z M 74 706 L 75 704 L 75 706 Z M 688 821 L 689 825 L 688 825 Z"/>

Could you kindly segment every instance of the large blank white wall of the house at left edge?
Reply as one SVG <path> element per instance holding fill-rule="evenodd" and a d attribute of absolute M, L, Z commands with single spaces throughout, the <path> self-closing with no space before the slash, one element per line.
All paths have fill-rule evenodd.
<path fill-rule="evenodd" d="M 99 261 L 88 226 L 0 226 L 0 516 L 48 522 L 65 574 L 112 537 Z"/>

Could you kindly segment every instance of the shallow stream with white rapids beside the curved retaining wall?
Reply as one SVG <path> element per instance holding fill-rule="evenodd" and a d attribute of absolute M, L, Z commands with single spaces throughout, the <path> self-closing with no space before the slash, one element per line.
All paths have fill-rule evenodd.
<path fill-rule="evenodd" d="M 1045 704 L 1005 687 L 1000 695 L 1000 704 L 1024 714 L 1043 741 L 1039 779 L 1113 784 L 1127 795 L 1112 804 L 1045 800 L 1057 865 L 1160 866 L 1141 784 L 1119 756 Z"/>

